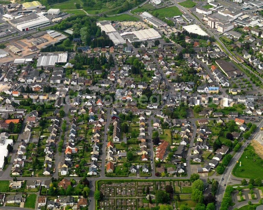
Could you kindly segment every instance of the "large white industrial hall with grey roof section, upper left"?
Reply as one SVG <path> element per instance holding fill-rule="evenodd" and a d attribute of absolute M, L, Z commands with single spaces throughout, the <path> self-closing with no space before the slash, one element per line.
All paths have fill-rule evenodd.
<path fill-rule="evenodd" d="M 42 14 L 36 13 L 10 20 L 9 23 L 20 31 L 28 31 L 38 27 L 49 25 L 50 21 Z"/>

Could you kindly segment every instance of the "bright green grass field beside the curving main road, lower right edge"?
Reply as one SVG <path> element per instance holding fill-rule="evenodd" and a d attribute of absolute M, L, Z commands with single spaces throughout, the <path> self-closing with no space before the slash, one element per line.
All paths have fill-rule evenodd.
<path fill-rule="evenodd" d="M 253 148 L 253 147 L 249 145 L 248 148 Z M 239 166 L 240 161 L 241 161 L 241 167 Z M 253 173 L 251 173 L 251 171 L 253 171 Z M 233 168 L 232 174 L 240 178 L 263 179 L 263 167 L 257 164 L 256 162 L 254 162 L 252 159 L 246 158 L 246 156 L 243 153 L 238 163 L 236 163 L 235 167 Z"/>

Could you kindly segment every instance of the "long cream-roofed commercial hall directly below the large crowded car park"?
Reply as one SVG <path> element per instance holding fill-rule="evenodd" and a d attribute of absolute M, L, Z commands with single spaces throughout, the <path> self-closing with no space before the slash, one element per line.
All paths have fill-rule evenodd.
<path fill-rule="evenodd" d="M 161 38 L 159 32 L 153 28 L 133 32 L 124 32 L 120 35 L 130 43 Z"/>

